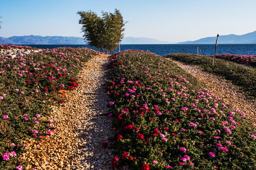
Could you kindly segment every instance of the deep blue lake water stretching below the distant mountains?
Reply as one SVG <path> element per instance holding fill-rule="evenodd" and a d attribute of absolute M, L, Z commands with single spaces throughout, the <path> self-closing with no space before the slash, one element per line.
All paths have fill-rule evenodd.
<path fill-rule="evenodd" d="M 53 47 L 87 47 L 96 50 L 94 47 L 88 45 L 28 45 L 36 48 L 51 49 Z M 197 46 L 199 54 L 214 55 L 215 44 L 121 44 L 120 50 L 143 50 L 151 51 L 157 55 L 163 56 L 166 54 L 183 52 L 183 53 L 197 53 Z M 118 48 L 116 52 L 118 51 Z M 218 44 L 216 54 L 243 54 L 256 55 L 256 44 Z"/>

